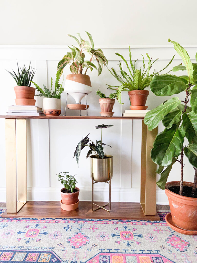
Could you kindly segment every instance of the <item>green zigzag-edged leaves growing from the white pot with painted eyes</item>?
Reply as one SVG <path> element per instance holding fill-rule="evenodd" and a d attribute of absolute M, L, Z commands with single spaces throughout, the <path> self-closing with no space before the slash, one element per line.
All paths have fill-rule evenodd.
<path fill-rule="evenodd" d="M 62 84 L 59 84 L 60 80 L 60 72 L 59 70 L 56 73 L 56 79 L 55 79 L 55 89 L 52 91 L 52 86 L 53 86 L 53 79 L 51 78 L 51 87 L 50 90 L 44 86 L 44 90 L 41 89 L 35 82 L 32 81 L 32 83 L 36 86 L 36 89 L 39 91 L 39 94 L 36 96 L 42 96 L 45 98 L 54 98 L 54 99 L 60 99 L 61 98 L 61 93 L 64 91 L 64 88 L 62 87 Z"/>

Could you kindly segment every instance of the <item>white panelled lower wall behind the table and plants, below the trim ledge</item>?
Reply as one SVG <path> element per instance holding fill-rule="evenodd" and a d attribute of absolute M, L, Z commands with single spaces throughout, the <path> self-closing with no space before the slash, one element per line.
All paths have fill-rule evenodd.
<path fill-rule="evenodd" d="M 196 47 L 187 47 L 191 59 L 195 59 Z M 1 97 L 0 114 L 6 114 L 8 105 L 14 104 L 14 80 L 8 70 L 16 69 L 16 59 L 19 65 L 27 64 L 31 60 L 32 66 L 37 69 L 34 81 L 39 85 L 50 83 L 50 76 L 55 77 L 58 58 L 68 51 L 63 46 L 0 46 L 0 79 Z M 115 52 L 121 53 L 128 60 L 128 48 L 103 48 L 103 52 L 109 60 L 109 67 L 118 69 L 118 57 Z M 172 55 L 175 54 L 172 47 L 132 47 L 133 59 L 141 58 L 141 54 L 148 54 L 153 59 L 160 58 L 154 64 L 153 69 L 163 68 Z M 180 64 L 179 56 L 176 55 L 171 68 Z M 142 61 L 138 61 L 138 66 Z M 126 68 L 123 68 L 126 70 Z M 64 75 L 69 73 L 66 68 Z M 103 73 L 97 77 L 97 72 L 90 73 L 93 92 L 87 96 L 90 105 L 89 115 L 98 116 L 100 106 L 96 90 L 108 94 L 106 83 L 115 85 L 108 70 L 104 68 Z M 61 77 L 63 80 L 63 77 Z M 124 109 L 129 109 L 129 100 L 126 92 L 123 92 L 123 106 L 115 103 L 116 116 L 121 116 Z M 179 94 L 184 98 L 184 94 Z M 42 97 L 35 97 L 37 104 L 42 107 Z M 66 95 L 62 95 L 62 111 L 64 112 Z M 147 100 L 149 109 L 162 103 L 166 98 L 157 97 L 150 92 Z M 70 102 L 72 102 L 70 97 Z M 68 115 L 77 115 L 78 112 L 68 110 Z M 62 114 L 63 115 L 63 114 Z M 113 124 L 114 127 L 103 131 L 103 141 L 112 145 L 106 147 L 106 153 L 114 156 L 114 175 L 112 180 L 112 201 L 140 200 L 140 166 L 141 166 L 141 120 L 27 120 L 28 130 L 28 200 L 59 200 L 60 182 L 56 173 L 70 171 L 77 174 L 78 186 L 80 188 L 80 200 L 91 200 L 91 180 L 89 175 L 89 160 L 86 160 L 87 149 L 82 150 L 79 168 L 76 161 L 72 159 L 75 147 L 82 136 L 90 133 L 90 139 L 99 139 L 100 131 L 95 130 L 98 124 Z M 159 125 L 159 131 L 162 131 Z M 5 170 L 5 141 L 4 141 L 4 119 L 0 119 L 0 201 L 6 200 L 6 170 Z M 174 164 L 169 180 L 179 180 L 180 165 Z M 192 181 L 193 168 L 188 161 L 185 162 L 184 179 Z M 107 185 L 106 185 L 107 186 Z M 107 188 L 97 185 L 95 199 L 107 198 Z M 164 191 L 157 189 L 157 203 L 168 203 Z"/>

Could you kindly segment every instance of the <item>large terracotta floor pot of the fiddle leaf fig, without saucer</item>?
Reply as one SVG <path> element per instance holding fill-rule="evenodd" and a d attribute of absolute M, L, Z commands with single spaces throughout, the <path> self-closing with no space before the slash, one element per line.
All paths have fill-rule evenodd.
<path fill-rule="evenodd" d="M 183 185 L 193 186 L 193 183 L 183 182 Z M 180 182 L 174 181 L 165 185 L 174 225 L 184 230 L 196 231 L 197 198 L 175 194 L 168 189 L 170 186 L 180 186 Z"/>

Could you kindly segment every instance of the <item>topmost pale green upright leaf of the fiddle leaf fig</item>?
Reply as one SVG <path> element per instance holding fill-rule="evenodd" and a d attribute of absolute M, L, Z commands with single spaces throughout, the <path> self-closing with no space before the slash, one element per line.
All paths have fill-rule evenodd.
<path fill-rule="evenodd" d="M 174 45 L 174 49 L 177 51 L 179 56 L 182 58 L 183 63 L 188 73 L 189 83 L 193 83 L 193 80 L 194 80 L 193 79 L 193 65 L 191 63 L 191 60 L 190 60 L 190 57 L 187 51 L 181 45 L 179 45 L 179 43 L 175 41 L 168 39 L 168 42 L 171 42 Z"/>

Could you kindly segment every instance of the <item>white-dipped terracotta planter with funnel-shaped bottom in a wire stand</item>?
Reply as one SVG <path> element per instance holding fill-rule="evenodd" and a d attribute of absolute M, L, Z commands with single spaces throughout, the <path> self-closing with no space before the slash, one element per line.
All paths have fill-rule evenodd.
<path fill-rule="evenodd" d="M 76 101 L 76 104 L 81 102 L 85 97 L 85 93 L 92 92 L 90 77 L 84 74 L 68 74 L 65 80 L 64 91 L 69 93 Z"/>

